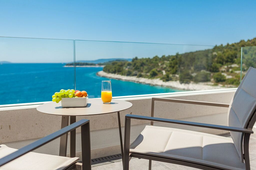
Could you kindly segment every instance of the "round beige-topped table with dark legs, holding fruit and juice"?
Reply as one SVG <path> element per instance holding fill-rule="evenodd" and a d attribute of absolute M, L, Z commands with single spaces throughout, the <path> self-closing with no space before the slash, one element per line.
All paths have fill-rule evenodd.
<path fill-rule="evenodd" d="M 63 108 L 61 103 L 49 102 L 37 107 L 37 111 L 41 113 L 46 113 L 49 115 L 60 115 L 61 118 L 61 128 L 66 127 L 69 124 L 76 122 L 76 116 L 89 116 L 89 115 L 102 115 L 108 113 L 116 113 L 118 116 L 118 127 L 120 135 L 121 153 L 123 158 L 123 141 L 121 132 L 121 122 L 120 122 L 120 111 L 124 111 L 132 107 L 132 104 L 124 100 L 113 99 L 110 104 L 103 104 L 101 98 L 89 98 L 86 107 L 75 107 L 75 108 Z M 67 140 L 68 135 L 63 135 L 60 138 L 60 156 L 67 156 Z M 76 155 L 76 131 L 70 132 L 70 157 L 75 157 Z"/>

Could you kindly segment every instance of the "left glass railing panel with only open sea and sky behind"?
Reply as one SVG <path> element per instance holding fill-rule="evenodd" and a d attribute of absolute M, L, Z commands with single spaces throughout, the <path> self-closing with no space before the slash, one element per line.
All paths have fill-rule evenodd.
<path fill-rule="evenodd" d="M 73 40 L 0 37 L 0 105 L 51 101 L 74 88 Z"/>

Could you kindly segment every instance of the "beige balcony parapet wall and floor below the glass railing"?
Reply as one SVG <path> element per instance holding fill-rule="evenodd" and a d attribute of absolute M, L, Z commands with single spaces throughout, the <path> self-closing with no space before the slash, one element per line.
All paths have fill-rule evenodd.
<path fill-rule="evenodd" d="M 177 92 L 169 94 L 151 94 L 148 96 L 116 97 L 119 100 L 127 100 L 133 107 L 121 112 L 121 125 L 124 134 L 124 116 L 136 114 L 150 116 L 151 97 L 178 98 L 185 100 L 198 100 L 229 103 L 236 89 L 204 90 L 192 92 Z M 42 138 L 60 129 L 60 116 L 50 116 L 36 111 L 39 104 L 30 103 L 27 105 L 12 105 L 0 108 L 1 115 L 1 144 L 12 148 L 21 148 L 27 144 Z M 114 114 L 114 113 L 113 113 Z M 93 169 L 121 169 L 120 143 L 118 135 L 118 124 L 116 115 L 107 114 L 99 116 L 79 116 L 80 119 L 90 119 L 91 122 L 91 158 L 94 160 Z M 36 116 L 35 116 L 36 115 Z M 216 109 L 214 107 L 190 105 L 189 107 L 179 103 L 158 103 L 155 104 L 155 116 L 169 119 L 196 121 L 201 123 L 227 125 L 227 108 Z M 132 121 L 131 142 L 143 130 L 147 121 Z M 211 134 L 228 136 L 227 131 L 210 130 L 207 128 L 191 128 L 183 125 L 169 126 L 164 123 L 156 123 L 166 127 L 178 127 L 187 130 L 207 132 Z M 76 155 L 81 157 L 80 131 L 76 132 Z M 251 167 L 255 165 L 255 134 L 250 140 Z M 69 146 L 68 146 L 69 147 Z M 69 151 L 69 148 L 68 148 Z M 38 148 L 35 152 L 52 155 L 59 154 L 59 139 L 56 139 L 45 146 Z M 69 154 L 69 152 L 68 152 Z M 108 157 L 116 155 L 115 157 Z M 101 159 L 97 159 L 101 158 Z M 108 158 L 109 161 L 103 160 Z M 148 161 L 143 159 L 132 159 L 131 169 L 147 169 Z M 185 167 L 169 163 L 153 162 L 153 169 L 184 169 Z M 186 169 L 193 169 L 188 168 Z"/>

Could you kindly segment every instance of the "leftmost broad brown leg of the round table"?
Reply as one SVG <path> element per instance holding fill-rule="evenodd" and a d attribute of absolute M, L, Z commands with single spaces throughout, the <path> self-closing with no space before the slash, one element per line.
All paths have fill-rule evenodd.
<path fill-rule="evenodd" d="M 61 129 L 68 126 L 69 116 L 61 117 Z M 65 134 L 60 137 L 60 156 L 67 156 L 67 142 L 68 142 L 68 134 Z"/>

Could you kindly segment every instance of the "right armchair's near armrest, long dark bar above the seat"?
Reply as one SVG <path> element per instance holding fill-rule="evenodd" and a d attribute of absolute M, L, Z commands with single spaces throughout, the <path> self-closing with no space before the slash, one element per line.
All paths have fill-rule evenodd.
<path fill-rule="evenodd" d="M 211 129 L 219 129 L 219 130 L 226 130 L 226 131 L 243 132 L 243 133 L 253 134 L 253 131 L 251 129 L 246 129 L 246 128 L 238 128 L 238 127 L 230 127 L 230 126 L 206 124 L 206 123 L 197 123 L 197 122 L 182 121 L 182 120 L 163 119 L 163 118 L 159 118 L 159 117 L 126 115 L 125 119 L 140 119 L 140 120 L 157 121 L 157 122 L 173 123 L 173 124 L 182 124 L 182 125 L 190 125 L 190 126 L 197 126 L 197 127 L 204 127 L 204 128 L 211 128 Z"/>

